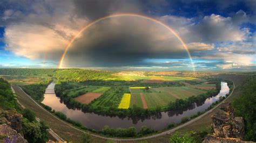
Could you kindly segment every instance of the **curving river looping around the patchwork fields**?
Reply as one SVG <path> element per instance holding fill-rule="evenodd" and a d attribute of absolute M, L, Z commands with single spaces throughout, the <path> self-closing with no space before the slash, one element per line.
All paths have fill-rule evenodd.
<path fill-rule="evenodd" d="M 95 113 L 84 113 L 81 110 L 69 109 L 54 92 L 55 83 L 48 85 L 45 91 L 43 104 L 48 105 L 55 111 L 63 112 L 68 118 L 80 121 L 87 128 L 100 130 L 105 125 L 113 128 L 128 128 L 134 126 L 140 130 L 142 126 L 148 126 L 154 130 L 163 130 L 169 123 L 180 123 L 183 117 L 190 117 L 196 113 L 205 111 L 212 103 L 219 100 L 219 97 L 228 94 L 230 89 L 226 82 L 221 82 L 221 90 L 217 96 L 207 98 L 203 103 L 194 103 L 189 108 L 171 112 L 161 112 L 158 116 L 148 118 L 119 118 L 97 115 Z"/>

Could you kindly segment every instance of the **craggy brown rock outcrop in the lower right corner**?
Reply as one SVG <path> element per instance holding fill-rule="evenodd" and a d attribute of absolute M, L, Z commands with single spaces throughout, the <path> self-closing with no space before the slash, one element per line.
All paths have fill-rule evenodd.
<path fill-rule="evenodd" d="M 242 141 L 245 135 L 245 124 L 242 117 L 234 117 L 231 103 L 220 105 L 221 111 L 212 116 L 213 134 L 207 135 L 204 142 L 247 142 Z"/>

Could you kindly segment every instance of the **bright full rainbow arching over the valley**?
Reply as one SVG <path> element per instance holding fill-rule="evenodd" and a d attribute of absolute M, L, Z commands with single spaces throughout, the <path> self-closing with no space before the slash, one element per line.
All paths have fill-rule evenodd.
<path fill-rule="evenodd" d="M 169 30 L 172 34 L 175 35 L 176 38 L 178 38 L 178 40 L 181 42 L 181 44 L 183 45 L 183 47 L 185 48 L 189 58 L 190 58 L 190 61 L 191 61 L 191 65 L 192 65 L 192 68 L 193 68 L 193 71 L 195 71 L 195 67 L 194 67 L 194 62 L 192 60 L 192 57 L 191 57 L 191 54 L 190 54 L 190 51 L 188 50 L 187 48 L 187 45 L 185 44 L 184 40 L 181 39 L 181 37 L 168 25 L 164 24 L 163 22 L 161 22 L 160 20 L 158 19 L 154 19 L 154 18 L 151 18 L 151 17 L 148 17 L 148 16 L 144 16 L 144 15 L 138 15 L 136 13 L 115 13 L 113 15 L 109 15 L 109 16 L 105 16 L 105 17 L 102 17 L 102 18 L 99 18 L 99 19 L 96 19 L 95 21 L 87 24 L 86 26 L 84 26 L 83 28 L 80 29 L 80 31 L 68 42 L 68 44 L 66 45 L 65 47 L 65 51 L 63 52 L 62 54 L 62 57 L 60 58 L 60 61 L 59 61 L 59 65 L 58 65 L 58 68 L 62 68 L 62 64 L 63 64 L 63 60 L 65 58 L 65 55 L 66 55 L 66 52 L 68 52 L 69 50 L 69 47 L 71 46 L 71 44 L 73 43 L 73 41 L 76 40 L 76 38 L 83 32 L 85 31 L 87 28 L 89 28 L 90 26 L 92 26 L 93 24 L 96 24 L 104 19 L 107 19 L 107 18 L 114 18 L 114 17 L 138 17 L 138 18 L 143 18 L 143 19 L 147 19 L 147 20 L 151 20 L 152 22 L 155 22 L 157 24 L 160 24 L 161 26 L 164 26 L 167 30 Z"/>

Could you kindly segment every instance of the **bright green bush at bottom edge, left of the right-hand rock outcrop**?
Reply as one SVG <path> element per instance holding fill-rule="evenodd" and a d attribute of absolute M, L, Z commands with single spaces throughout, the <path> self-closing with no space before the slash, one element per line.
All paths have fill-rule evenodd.
<path fill-rule="evenodd" d="M 184 134 L 183 136 L 179 137 L 178 132 L 175 132 L 170 137 L 170 142 L 172 143 L 196 143 L 197 141 L 191 137 L 190 134 Z"/>

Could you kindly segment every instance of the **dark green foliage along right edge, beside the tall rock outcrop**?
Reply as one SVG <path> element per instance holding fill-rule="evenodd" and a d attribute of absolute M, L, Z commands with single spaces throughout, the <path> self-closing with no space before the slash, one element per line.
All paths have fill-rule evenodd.
<path fill-rule="evenodd" d="M 242 95 L 235 99 L 233 106 L 236 116 L 245 120 L 245 139 L 256 141 L 256 76 L 242 87 Z"/>

